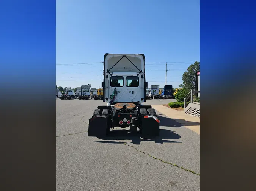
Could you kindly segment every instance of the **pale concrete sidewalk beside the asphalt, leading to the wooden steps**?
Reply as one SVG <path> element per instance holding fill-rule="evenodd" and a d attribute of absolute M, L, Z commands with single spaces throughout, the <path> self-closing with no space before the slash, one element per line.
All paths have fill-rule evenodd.
<path fill-rule="evenodd" d="M 184 114 L 183 111 L 177 111 L 163 105 L 151 105 L 152 108 L 159 111 L 160 113 L 170 117 L 181 125 L 185 126 L 188 129 L 196 132 L 200 135 L 200 119 L 197 117 L 192 117 L 188 114 Z"/>

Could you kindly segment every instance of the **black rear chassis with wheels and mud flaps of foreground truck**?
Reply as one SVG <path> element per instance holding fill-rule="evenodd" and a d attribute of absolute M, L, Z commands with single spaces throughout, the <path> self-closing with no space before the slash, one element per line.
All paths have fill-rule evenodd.
<path fill-rule="evenodd" d="M 155 109 L 150 105 L 116 103 L 98 106 L 89 119 L 88 136 L 105 137 L 114 127 L 130 127 L 132 132 L 139 128 L 142 136 L 159 136 L 159 123 Z"/>

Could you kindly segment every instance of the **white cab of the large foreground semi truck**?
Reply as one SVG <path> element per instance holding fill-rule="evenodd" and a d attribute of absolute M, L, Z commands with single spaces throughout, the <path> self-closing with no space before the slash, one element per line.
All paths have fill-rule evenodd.
<path fill-rule="evenodd" d="M 143 55 L 108 54 L 104 64 L 104 102 L 146 101 Z"/>

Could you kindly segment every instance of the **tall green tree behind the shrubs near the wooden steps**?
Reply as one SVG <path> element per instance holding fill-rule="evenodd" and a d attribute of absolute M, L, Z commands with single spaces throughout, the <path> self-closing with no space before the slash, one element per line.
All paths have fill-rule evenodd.
<path fill-rule="evenodd" d="M 196 71 L 200 69 L 200 62 L 195 62 L 190 65 L 186 72 L 182 75 L 183 84 L 180 84 L 179 87 L 186 90 L 196 88 Z"/>

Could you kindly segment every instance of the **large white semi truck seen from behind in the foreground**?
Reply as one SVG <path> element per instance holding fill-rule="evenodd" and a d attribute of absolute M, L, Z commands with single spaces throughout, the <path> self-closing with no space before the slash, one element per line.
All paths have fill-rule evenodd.
<path fill-rule="evenodd" d="M 114 127 L 137 128 L 142 136 L 159 136 L 155 110 L 146 102 L 144 54 L 105 54 L 103 102 L 89 119 L 88 136 L 101 137 Z"/>

